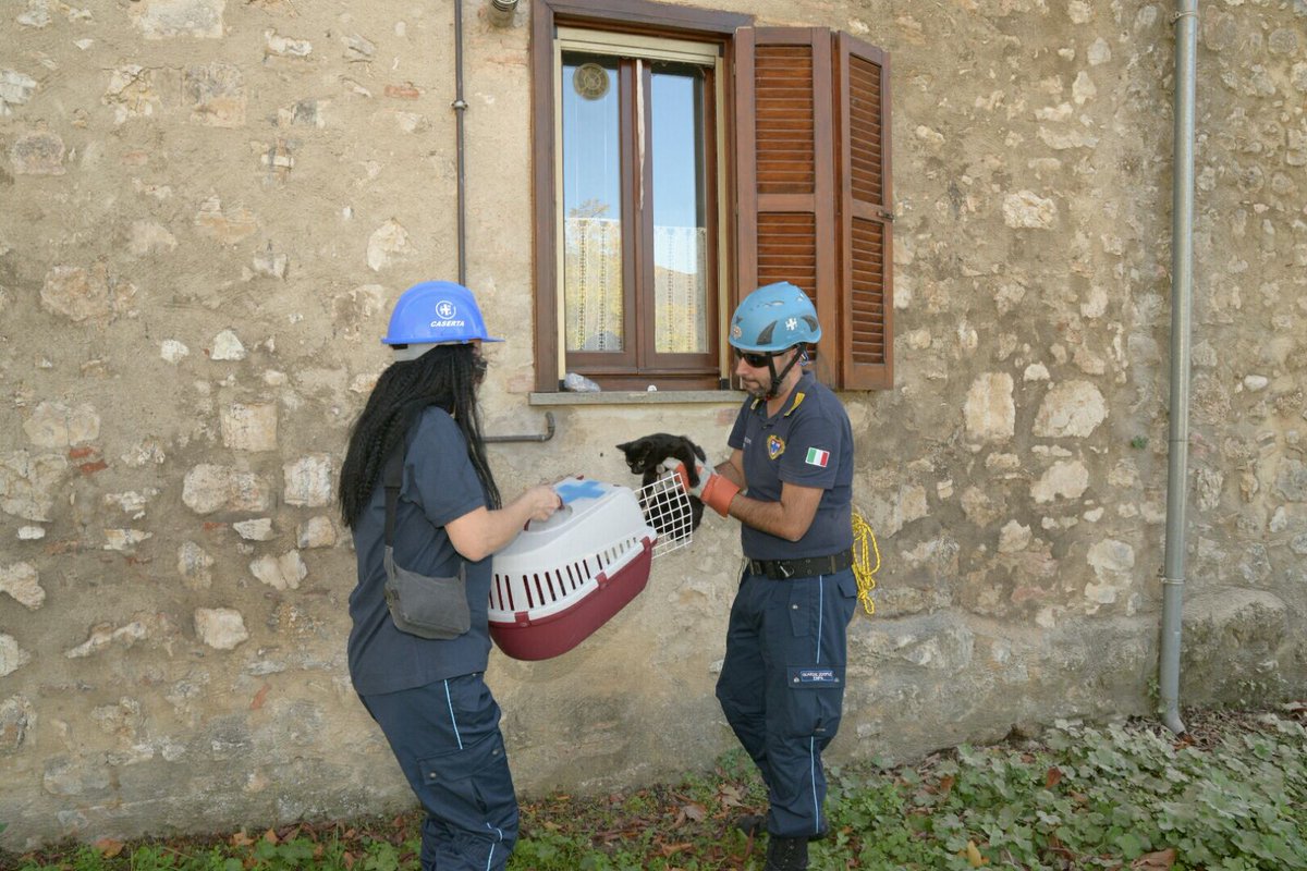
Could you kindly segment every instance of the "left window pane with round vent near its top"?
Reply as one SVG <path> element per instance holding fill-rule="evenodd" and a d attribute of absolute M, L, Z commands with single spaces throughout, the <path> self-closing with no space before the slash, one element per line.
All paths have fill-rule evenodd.
<path fill-rule="evenodd" d="M 569 351 L 621 351 L 622 145 L 618 61 L 565 55 L 563 300 Z"/>

